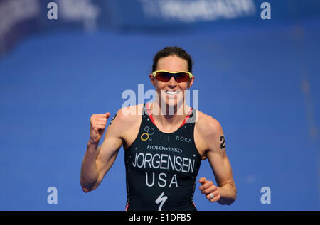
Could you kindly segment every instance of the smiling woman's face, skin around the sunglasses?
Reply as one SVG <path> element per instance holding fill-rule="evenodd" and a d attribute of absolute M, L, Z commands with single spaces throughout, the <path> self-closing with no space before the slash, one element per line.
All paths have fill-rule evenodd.
<path fill-rule="evenodd" d="M 166 70 L 170 72 L 188 71 L 188 62 L 175 55 L 162 57 L 158 61 L 156 70 Z M 169 82 L 162 82 L 157 80 L 153 75 L 149 76 L 160 97 L 159 101 L 161 100 L 161 104 L 165 103 L 167 107 L 177 106 L 183 103 L 184 93 L 186 89 L 191 87 L 194 79 L 194 77 L 192 77 L 187 82 L 178 83 L 174 77 L 171 77 Z"/>

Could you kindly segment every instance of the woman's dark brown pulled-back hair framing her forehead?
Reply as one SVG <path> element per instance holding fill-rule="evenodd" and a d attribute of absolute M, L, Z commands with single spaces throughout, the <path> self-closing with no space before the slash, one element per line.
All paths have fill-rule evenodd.
<path fill-rule="evenodd" d="M 159 52 L 156 53 L 156 55 L 154 55 L 154 64 L 152 65 L 152 72 L 156 71 L 158 61 L 162 57 L 168 57 L 170 55 L 176 55 L 177 57 L 186 60 L 188 62 L 188 72 L 192 72 L 193 60 L 191 59 L 190 55 L 186 53 L 185 50 L 177 46 L 163 48 L 159 50 Z"/>

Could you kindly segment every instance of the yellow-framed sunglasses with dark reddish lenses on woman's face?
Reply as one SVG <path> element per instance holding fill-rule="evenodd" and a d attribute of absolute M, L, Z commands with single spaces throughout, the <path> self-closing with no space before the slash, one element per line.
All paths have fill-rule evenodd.
<path fill-rule="evenodd" d="M 174 79 L 176 79 L 176 82 L 178 83 L 186 82 L 193 77 L 191 72 L 186 72 L 186 71 L 169 72 L 166 70 L 156 70 L 152 72 L 152 75 L 154 75 L 156 79 L 162 82 L 169 82 L 171 77 L 174 77 Z"/>

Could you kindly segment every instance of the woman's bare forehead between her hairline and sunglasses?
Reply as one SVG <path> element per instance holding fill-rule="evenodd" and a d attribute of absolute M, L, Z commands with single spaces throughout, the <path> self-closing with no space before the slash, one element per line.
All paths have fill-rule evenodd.
<path fill-rule="evenodd" d="M 161 57 L 157 64 L 157 70 L 169 70 L 169 71 L 181 71 L 188 70 L 187 60 L 181 59 L 176 55 L 170 55 L 168 57 Z"/>

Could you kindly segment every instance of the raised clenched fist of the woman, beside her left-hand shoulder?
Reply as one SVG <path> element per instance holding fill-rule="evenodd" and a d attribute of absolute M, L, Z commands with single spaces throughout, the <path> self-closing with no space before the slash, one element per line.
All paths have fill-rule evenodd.
<path fill-rule="evenodd" d="M 107 125 L 107 119 L 110 113 L 105 114 L 93 114 L 90 117 L 90 142 L 99 143 L 100 138 L 105 132 L 105 126 Z"/>

